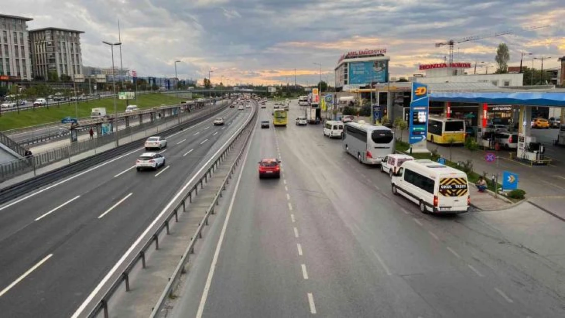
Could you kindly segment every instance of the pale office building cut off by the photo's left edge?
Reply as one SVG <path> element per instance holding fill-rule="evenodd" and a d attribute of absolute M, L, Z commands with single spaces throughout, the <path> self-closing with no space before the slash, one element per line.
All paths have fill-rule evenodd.
<path fill-rule="evenodd" d="M 0 80 L 32 79 L 28 26 L 32 18 L 0 14 Z"/>

